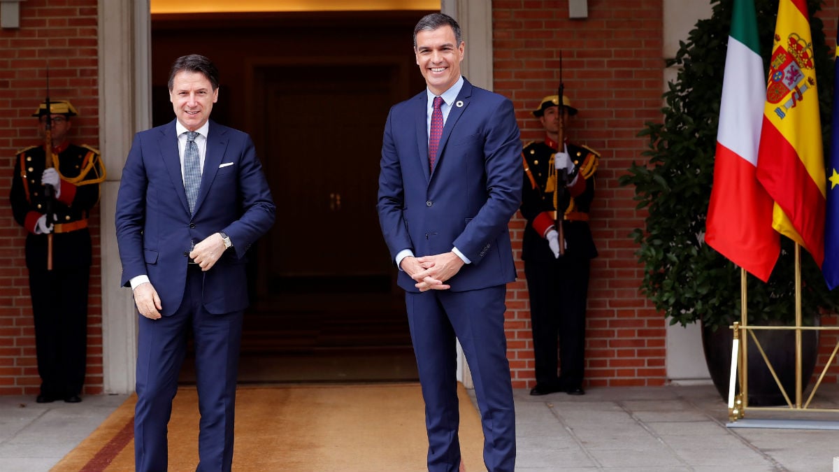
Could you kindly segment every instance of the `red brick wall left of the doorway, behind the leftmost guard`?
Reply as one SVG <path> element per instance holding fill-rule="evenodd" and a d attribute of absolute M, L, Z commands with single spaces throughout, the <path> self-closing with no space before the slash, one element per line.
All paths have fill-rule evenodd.
<path fill-rule="evenodd" d="M 8 205 L 14 155 L 39 144 L 36 118 L 30 115 L 44 100 L 48 65 L 50 98 L 70 100 L 80 113 L 70 136 L 76 143 L 98 146 L 96 3 L 27 0 L 20 3 L 20 28 L 0 29 L 0 395 L 36 395 L 40 385 L 23 256 L 26 232 Z M 93 213 L 86 394 L 102 392 L 98 207 Z"/>

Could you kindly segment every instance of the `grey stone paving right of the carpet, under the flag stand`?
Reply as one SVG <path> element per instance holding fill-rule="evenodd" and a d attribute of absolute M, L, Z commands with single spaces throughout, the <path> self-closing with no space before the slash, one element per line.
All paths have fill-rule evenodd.
<path fill-rule="evenodd" d="M 748 409 L 744 419 L 789 413 Z M 830 472 L 839 456 L 836 430 L 727 427 L 727 406 L 711 385 L 590 389 L 586 396 L 517 391 L 516 414 L 517 472 Z M 806 426 L 828 416 L 839 419 L 807 413 Z"/>

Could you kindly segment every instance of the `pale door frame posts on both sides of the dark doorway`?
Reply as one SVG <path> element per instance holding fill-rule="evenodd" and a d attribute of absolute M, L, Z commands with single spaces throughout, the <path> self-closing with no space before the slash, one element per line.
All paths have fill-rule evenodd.
<path fill-rule="evenodd" d="M 492 3 L 442 0 L 440 11 L 458 19 L 469 54 L 462 71 L 492 90 Z M 151 127 L 151 9 L 149 0 L 98 3 L 99 149 L 108 170 L 102 183 L 102 385 L 106 393 L 134 391 L 137 315 L 131 291 L 118 286 L 122 264 L 114 233 L 117 191 L 133 134 Z M 458 345 L 457 377 L 472 387 Z"/>

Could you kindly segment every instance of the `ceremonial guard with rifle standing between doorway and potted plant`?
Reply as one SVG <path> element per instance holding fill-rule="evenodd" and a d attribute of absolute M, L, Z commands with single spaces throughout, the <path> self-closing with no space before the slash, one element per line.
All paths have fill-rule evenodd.
<path fill-rule="evenodd" d="M 522 260 L 536 370 L 530 395 L 585 393 L 586 299 L 590 262 L 597 257 L 588 220 L 599 155 L 565 139 L 565 125 L 576 113 L 565 95 L 561 106 L 559 95 L 543 98 L 533 114 L 545 128 L 545 140 L 526 144 L 522 153 L 521 213 L 527 219 Z"/>

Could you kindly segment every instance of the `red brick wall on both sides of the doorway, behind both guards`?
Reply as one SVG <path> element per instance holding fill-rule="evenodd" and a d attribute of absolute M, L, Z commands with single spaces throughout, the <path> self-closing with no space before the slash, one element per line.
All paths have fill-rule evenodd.
<path fill-rule="evenodd" d="M 21 3 L 19 29 L 0 29 L 0 196 L 8 195 L 13 155 L 38 144 L 34 118 L 44 99 L 45 67 L 50 65 L 52 98 L 66 98 L 81 116 L 73 120 L 76 142 L 96 145 L 97 0 L 28 0 Z M 836 34 L 839 0 L 821 12 L 829 39 Z M 628 233 L 643 226 L 634 210 L 633 190 L 618 176 L 646 149 L 636 137 L 644 122 L 659 119 L 662 90 L 660 0 L 589 0 L 589 18 L 568 19 L 567 2 L 495 0 L 494 68 L 497 92 L 513 100 L 525 140 L 541 139 L 539 122 L 529 114 L 555 90 L 562 50 L 565 89 L 581 110 L 571 136 L 602 153 L 592 230 L 600 257 L 593 261 L 587 337 L 588 385 L 662 385 L 664 318 L 638 294 L 640 268 Z M 832 43 L 829 40 L 829 43 Z M 99 215 L 91 218 L 99 247 Z M 513 219 L 520 247 L 524 222 Z M 23 260 L 25 233 L 8 204 L 0 205 L 0 395 L 34 395 L 34 328 Z M 94 250 L 95 254 L 97 253 Z M 518 257 L 518 253 L 516 254 Z M 91 268 L 88 375 L 85 393 L 102 391 L 102 301 L 100 258 Z M 519 262 L 519 281 L 508 296 L 509 358 L 513 386 L 533 386 L 527 287 Z M 836 323 L 831 318 L 826 323 Z M 836 343 L 823 336 L 821 364 Z M 826 381 L 836 382 L 836 375 Z"/>

